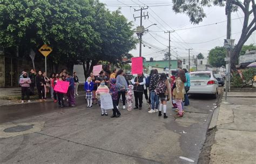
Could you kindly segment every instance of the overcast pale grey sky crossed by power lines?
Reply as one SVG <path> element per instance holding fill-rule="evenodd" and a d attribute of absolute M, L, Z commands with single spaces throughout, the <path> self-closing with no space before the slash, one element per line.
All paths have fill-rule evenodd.
<path fill-rule="evenodd" d="M 149 28 L 149 33 L 144 33 L 142 40 L 144 40 L 145 47 L 142 46 L 142 56 L 149 59 L 153 57 L 154 60 L 161 60 L 164 57 L 164 53 L 167 52 L 167 46 L 169 45 L 168 33 L 164 33 L 167 30 L 176 30 L 171 33 L 171 51 L 172 59 L 178 57 L 188 56 L 188 50 L 191 50 L 191 56 L 197 55 L 199 52 L 203 53 L 206 57 L 208 51 L 215 46 L 223 46 L 224 39 L 226 38 L 226 20 L 225 7 L 212 6 L 211 8 L 205 8 L 207 18 L 204 18 L 203 22 L 198 25 L 190 23 L 188 16 L 185 13 L 176 14 L 172 11 L 172 1 L 153 1 L 153 0 L 100 0 L 105 3 L 106 8 L 111 11 L 117 10 L 121 6 L 122 14 L 133 22 L 134 28 L 140 24 L 140 19 L 134 21 L 134 16 L 140 16 L 140 12 L 134 12 L 134 9 L 140 9 L 139 5 L 148 5 L 149 9 L 144 10 L 145 15 L 149 13 L 149 19 L 143 19 L 143 25 L 147 26 L 156 23 Z M 144 5 L 145 4 L 145 5 Z M 129 7 L 132 6 L 132 7 Z M 242 11 L 233 12 L 232 18 L 244 17 Z M 250 17 L 252 20 L 253 16 Z M 243 18 L 232 20 L 232 39 L 235 39 L 237 43 L 242 29 Z M 223 23 L 218 23 L 223 22 Z M 209 26 L 203 26 L 200 28 L 193 28 L 196 26 L 207 25 L 212 23 L 218 23 Z M 192 29 L 187 29 L 192 28 Z M 186 30 L 180 30 L 186 29 Z M 136 36 L 136 35 L 134 35 Z M 247 40 L 246 44 L 255 44 L 256 35 L 255 32 Z M 180 43 L 182 42 L 182 43 Z M 153 46 L 150 46 L 153 45 Z M 149 48 L 151 47 L 151 49 Z M 164 51 L 163 51 L 164 50 Z M 160 51 L 160 52 L 158 52 Z M 158 52 L 158 53 L 154 53 Z M 133 56 L 139 56 L 139 44 L 136 50 L 132 50 L 130 53 Z M 151 54 L 153 53 L 153 54 Z"/>

